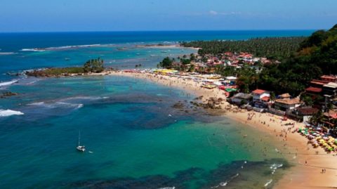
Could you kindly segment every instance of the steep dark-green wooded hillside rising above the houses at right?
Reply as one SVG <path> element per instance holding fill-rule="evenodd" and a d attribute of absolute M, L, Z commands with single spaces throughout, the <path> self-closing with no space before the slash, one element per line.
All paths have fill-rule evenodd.
<path fill-rule="evenodd" d="M 318 79 L 322 74 L 337 74 L 337 25 L 313 33 L 284 63 L 267 65 L 257 83 L 277 93 L 298 95 L 311 79 Z"/>

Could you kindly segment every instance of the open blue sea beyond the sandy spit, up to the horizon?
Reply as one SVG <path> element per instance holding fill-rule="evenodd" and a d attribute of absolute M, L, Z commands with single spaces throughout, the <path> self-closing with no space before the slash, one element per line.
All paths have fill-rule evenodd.
<path fill-rule="evenodd" d="M 0 82 L 13 79 L 6 72 L 40 67 L 83 65 L 91 58 L 103 58 L 107 67 L 155 67 L 166 56 L 195 51 L 183 48 L 137 48 L 144 44 L 176 44 L 192 40 L 237 40 L 253 37 L 309 36 L 313 30 L 242 30 L 176 32 L 47 32 L 0 33 Z M 89 45 L 89 46 L 88 46 Z M 94 46 L 93 46 L 94 45 Z M 125 47 L 124 50 L 122 47 Z M 46 48 L 43 52 L 22 51 Z M 161 51 L 165 51 L 164 53 Z M 8 54 L 9 53 L 9 54 Z M 65 58 L 70 59 L 68 61 Z"/>

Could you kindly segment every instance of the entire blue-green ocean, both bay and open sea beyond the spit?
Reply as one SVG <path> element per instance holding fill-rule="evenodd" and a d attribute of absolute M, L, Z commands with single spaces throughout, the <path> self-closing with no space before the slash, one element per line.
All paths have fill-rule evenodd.
<path fill-rule="evenodd" d="M 187 91 L 127 77 L 34 78 L 8 72 L 80 66 L 156 67 L 201 39 L 312 31 L 0 34 L 0 188 L 272 188 L 289 165 L 270 136 L 188 109 Z M 79 131 L 86 152 L 77 152 Z M 243 135 L 248 134 L 246 138 Z"/>

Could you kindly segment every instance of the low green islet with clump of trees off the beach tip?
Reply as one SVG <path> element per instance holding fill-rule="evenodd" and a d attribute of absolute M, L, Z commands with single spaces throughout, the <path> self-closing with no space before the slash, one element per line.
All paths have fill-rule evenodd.
<path fill-rule="evenodd" d="M 84 74 L 87 72 L 103 72 L 104 61 L 100 58 L 88 60 L 83 67 L 53 67 L 44 70 L 33 70 L 26 72 L 28 76 L 34 77 L 53 77 L 69 74 Z"/>

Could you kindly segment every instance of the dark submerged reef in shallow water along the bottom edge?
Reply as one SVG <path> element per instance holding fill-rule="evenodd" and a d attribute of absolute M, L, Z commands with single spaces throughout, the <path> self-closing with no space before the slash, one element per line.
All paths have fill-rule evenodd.
<path fill-rule="evenodd" d="M 176 171 L 174 176 L 149 175 L 140 178 L 124 177 L 107 180 L 77 181 L 61 184 L 61 188 L 218 188 L 226 183 L 226 188 L 265 188 L 265 179 L 273 178 L 271 188 L 281 178 L 282 174 L 276 169 L 289 168 L 284 159 L 268 159 L 261 162 L 234 161 L 230 164 L 219 164 L 216 169 L 206 170 L 191 167 Z M 272 172 L 274 173 L 272 174 Z M 277 175 L 279 174 L 279 175 Z M 261 179 L 265 178 L 265 179 Z M 194 185 L 190 185 L 194 183 Z M 252 183 L 254 183 L 252 185 Z M 220 187 L 221 188 L 221 187 Z"/>

